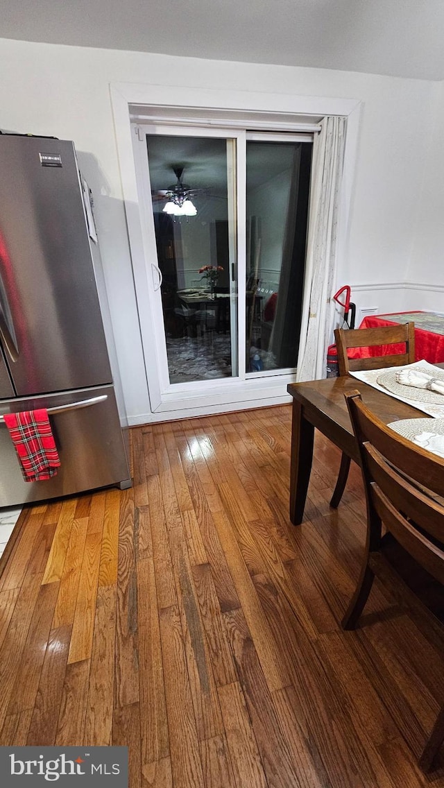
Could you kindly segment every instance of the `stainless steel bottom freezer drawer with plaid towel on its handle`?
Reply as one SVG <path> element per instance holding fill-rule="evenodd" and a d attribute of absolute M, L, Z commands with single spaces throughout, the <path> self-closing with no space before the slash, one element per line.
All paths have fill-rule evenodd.
<path fill-rule="evenodd" d="M 57 476 L 47 481 L 24 481 L 6 425 L 0 422 L 0 507 L 131 484 L 113 386 L 3 400 L 0 414 L 36 407 L 50 412 L 62 464 Z"/>

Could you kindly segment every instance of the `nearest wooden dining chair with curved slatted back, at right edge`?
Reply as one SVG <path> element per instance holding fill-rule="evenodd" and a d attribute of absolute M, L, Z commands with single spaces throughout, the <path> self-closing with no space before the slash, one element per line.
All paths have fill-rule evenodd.
<path fill-rule="evenodd" d="M 342 620 L 354 629 L 371 591 L 371 559 L 381 545 L 382 524 L 397 543 L 439 583 L 444 583 L 444 459 L 387 427 L 361 400 L 345 395 L 364 478 L 367 540 L 356 592 Z M 444 740 L 444 706 L 420 756 L 429 771 Z"/>

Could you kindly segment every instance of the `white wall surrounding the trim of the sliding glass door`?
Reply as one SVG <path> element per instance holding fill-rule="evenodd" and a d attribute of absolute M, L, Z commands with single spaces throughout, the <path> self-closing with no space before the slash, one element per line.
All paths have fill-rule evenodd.
<path fill-rule="evenodd" d="M 84 175 L 95 192 L 96 220 L 118 359 L 129 416 L 149 410 L 144 360 L 132 281 L 121 180 L 110 103 L 110 83 L 138 82 L 318 95 L 363 102 L 349 254 L 339 261 L 338 284 L 392 282 L 394 309 L 404 303 L 398 287 L 417 236 L 434 235 L 431 257 L 438 266 L 434 217 L 427 210 L 416 225 L 423 183 L 423 156 L 438 101 L 437 86 L 323 69 L 255 65 L 197 58 L 35 44 L 0 39 L 0 126 L 73 139 L 84 154 Z M 438 148 L 438 140 L 435 145 Z M 435 172 L 433 162 L 431 172 Z M 433 203 L 435 184 L 429 195 Z M 433 193 L 432 193 L 433 192 Z M 438 210 L 435 211 L 435 216 Z M 436 218 L 442 223 L 442 211 Z M 442 247 L 442 243 L 441 243 Z M 416 248 L 416 247 L 415 247 Z M 419 260 L 416 251 L 416 260 Z M 422 277 L 418 265 L 416 277 Z M 409 270 L 412 277 L 413 271 Z M 419 281 L 419 280 L 418 280 Z M 361 296 L 365 295 L 365 290 Z M 379 305 L 377 305 L 379 306 Z M 418 303 L 416 308 L 420 308 Z M 383 310 L 385 307 L 383 307 Z"/>

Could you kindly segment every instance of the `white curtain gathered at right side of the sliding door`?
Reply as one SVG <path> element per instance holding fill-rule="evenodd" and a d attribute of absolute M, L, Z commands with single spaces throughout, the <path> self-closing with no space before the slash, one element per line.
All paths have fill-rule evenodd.
<path fill-rule="evenodd" d="M 330 305 L 336 279 L 336 235 L 344 166 L 345 117 L 324 117 L 313 146 L 304 299 L 297 381 L 325 377 L 333 327 Z"/>

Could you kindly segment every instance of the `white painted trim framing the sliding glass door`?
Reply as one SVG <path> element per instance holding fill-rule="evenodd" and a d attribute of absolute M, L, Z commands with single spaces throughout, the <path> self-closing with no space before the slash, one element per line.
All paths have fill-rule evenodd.
<path fill-rule="evenodd" d="M 181 123 L 181 109 L 188 110 L 188 117 L 184 117 L 184 125 L 187 122 L 188 124 L 190 123 L 190 108 L 196 109 L 196 116 L 198 117 L 202 117 L 204 109 L 226 110 L 227 114 L 229 114 L 229 110 L 233 110 L 236 111 L 237 117 L 239 117 L 239 111 L 255 111 L 265 113 L 265 117 L 267 118 L 268 116 L 270 118 L 271 130 L 273 129 L 271 113 L 285 113 L 287 116 L 294 117 L 294 124 L 289 123 L 289 131 L 302 131 L 307 128 L 304 124 L 298 125 L 297 116 L 300 115 L 312 116 L 316 119 L 324 115 L 346 116 L 348 122 L 345 139 L 342 218 L 338 232 L 338 256 L 341 255 L 342 258 L 345 258 L 360 121 L 360 102 L 358 100 L 263 94 L 246 91 L 211 91 L 191 87 L 162 87 L 150 84 L 125 83 L 111 84 L 110 92 L 136 295 L 138 294 L 140 332 L 144 346 L 147 377 L 150 369 L 159 368 L 159 343 L 157 339 L 159 338 L 159 332 L 162 331 L 163 333 L 163 318 L 162 315 L 157 314 L 157 310 L 143 310 L 140 308 L 140 304 L 151 303 L 150 288 L 153 287 L 153 278 L 151 261 L 147 257 L 146 213 L 144 212 L 144 206 L 140 202 L 140 191 L 138 191 L 136 180 L 136 164 L 132 144 L 132 135 L 135 132 L 133 131 L 134 127 L 131 125 L 133 106 L 138 106 L 139 111 L 140 106 L 150 108 L 147 111 L 147 120 L 151 114 L 151 108 L 152 116 L 155 116 L 156 108 L 159 112 L 161 107 L 162 109 L 166 106 L 171 107 L 178 123 Z M 158 123 L 155 121 L 151 128 L 155 129 L 157 125 Z M 282 124 L 279 125 L 279 130 L 282 131 Z M 225 132 L 224 136 L 236 136 L 235 133 L 232 135 L 231 132 L 227 132 L 227 128 L 224 128 L 223 131 Z M 173 132 L 171 127 L 170 132 Z M 200 129 L 200 132 L 202 132 L 202 129 Z M 177 133 L 181 132 L 177 130 Z M 216 133 L 220 136 L 220 130 Z M 149 180 L 144 188 L 149 188 Z M 245 244 L 242 242 L 243 231 L 241 226 L 238 225 L 237 229 L 239 255 Z M 242 285 L 244 287 L 244 283 L 238 280 L 239 291 L 241 291 Z M 244 298 L 242 298 L 241 292 L 239 292 L 239 299 L 242 309 Z M 241 309 L 239 314 L 240 330 Z M 149 314 L 147 314 L 148 312 Z M 153 342 L 153 337 L 157 338 L 155 342 Z M 241 359 L 239 361 L 241 362 Z M 179 386 L 181 390 L 177 390 L 178 387 L 175 385 L 173 391 L 165 393 L 165 381 L 159 379 L 154 381 L 152 374 L 150 377 L 150 400 L 153 421 L 172 418 L 173 414 L 185 417 L 215 412 L 215 408 L 221 406 L 225 410 L 236 410 L 241 407 L 252 407 L 255 403 L 278 404 L 288 402 L 289 396 L 286 392 L 286 386 L 294 380 L 292 374 L 282 374 L 278 378 L 276 376 L 261 377 L 260 383 L 257 378 L 244 381 L 233 378 L 224 379 L 223 381 L 200 381 L 200 385 L 203 386 L 201 388 L 203 393 L 200 396 L 196 396 L 195 384 L 182 384 Z"/>

